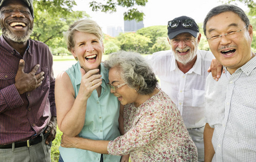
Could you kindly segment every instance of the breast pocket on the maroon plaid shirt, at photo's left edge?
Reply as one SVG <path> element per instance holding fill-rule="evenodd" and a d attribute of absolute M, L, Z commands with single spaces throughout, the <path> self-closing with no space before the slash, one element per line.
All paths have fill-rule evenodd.
<path fill-rule="evenodd" d="M 15 83 L 16 73 L 0 72 L 0 89 Z"/>

